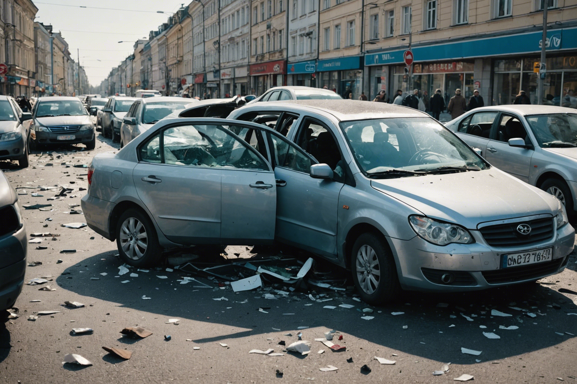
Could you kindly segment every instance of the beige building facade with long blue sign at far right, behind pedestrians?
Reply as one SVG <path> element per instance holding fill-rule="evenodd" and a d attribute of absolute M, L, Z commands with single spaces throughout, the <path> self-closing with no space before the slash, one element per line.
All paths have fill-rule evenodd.
<path fill-rule="evenodd" d="M 365 83 L 372 94 L 387 89 L 455 89 L 465 97 L 479 89 L 486 105 L 511 104 L 524 90 L 537 104 L 577 107 L 577 4 L 548 0 L 544 94 L 537 94 L 542 40 L 542 0 L 377 1 L 372 44 L 364 57 Z M 373 33 L 374 32 L 374 33 Z M 403 52 L 413 51 L 413 76 L 404 76 Z M 571 102 L 564 100 L 569 98 Z"/>

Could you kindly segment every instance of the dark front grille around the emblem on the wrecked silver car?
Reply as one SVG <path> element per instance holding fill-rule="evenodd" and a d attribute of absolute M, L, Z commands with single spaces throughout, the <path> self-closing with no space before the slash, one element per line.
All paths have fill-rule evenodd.
<path fill-rule="evenodd" d="M 522 235 L 517 231 L 520 224 L 528 224 L 531 232 Z M 492 246 L 516 246 L 544 241 L 553 237 L 553 219 L 535 219 L 523 222 L 492 225 L 479 229 L 487 244 Z"/>

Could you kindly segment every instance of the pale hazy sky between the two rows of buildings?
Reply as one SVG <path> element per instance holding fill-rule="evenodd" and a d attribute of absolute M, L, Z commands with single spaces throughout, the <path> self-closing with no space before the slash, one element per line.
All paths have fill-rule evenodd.
<path fill-rule="evenodd" d="M 74 61 L 80 54 L 88 82 L 96 86 L 134 52 L 134 41 L 148 39 L 148 33 L 166 22 L 185 0 L 32 1 L 38 7 L 35 21 L 51 24 L 62 33 Z"/>

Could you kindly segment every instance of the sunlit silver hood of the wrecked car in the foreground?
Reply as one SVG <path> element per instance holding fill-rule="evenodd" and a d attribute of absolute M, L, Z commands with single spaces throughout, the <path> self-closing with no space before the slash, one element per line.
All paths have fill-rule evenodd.
<path fill-rule="evenodd" d="M 553 196 L 496 168 L 371 180 L 371 185 L 425 216 L 467 229 L 493 220 L 555 215 L 559 206 Z"/>

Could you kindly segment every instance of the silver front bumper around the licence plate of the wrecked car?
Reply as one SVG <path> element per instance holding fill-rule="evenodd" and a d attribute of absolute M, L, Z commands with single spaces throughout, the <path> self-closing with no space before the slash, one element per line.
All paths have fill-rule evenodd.
<path fill-rule="evenodd" d="M 478 231 L 477 242 L 438 246 L 415 236 L 410 240 L 389 238 L 403 289 L 430 292 L 460 292 L 530 282 L 565 269 L 573 251 L 575 230 L 567 224 L 548 241 L 527 246 L 497 249 L 486 244 Z M 553 248 L 552 260 L 544 263 L 501 268 L 501 255 Z M 452 281 L 443 283 L 447 274 Z M 451 279 L 449 279 L 451 280 Z"/>

